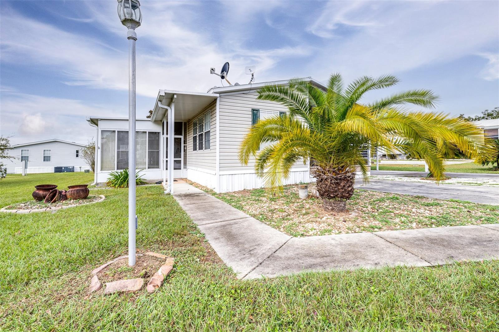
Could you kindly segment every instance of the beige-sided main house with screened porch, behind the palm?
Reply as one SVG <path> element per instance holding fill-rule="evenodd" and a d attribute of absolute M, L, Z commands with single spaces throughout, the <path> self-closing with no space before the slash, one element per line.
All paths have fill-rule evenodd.
<path fill-rule="evenodd" d="M 325 90 L 312 78 L 305 80 Z M 280 104 L 256 100 L 256 89 L 265 84 L 287 81 L 214 87 L 208 93 L 160 90 L 151 119 L 136 122 L 137 169 L 145 179 L 166 181 L 170 175 L 166 169 L 173 165 L 173 177 L 188 178 L 216 192 L 263 186 L 254 172 L 254 159 L 243 166 L 238 152 L 255 121 L 288 112 Z M 173 130 L 168 126 L 172 116 Z M 128 167 L 128 120 L 88 117 L 87 121 L 96 128 L 95 182 L 102 183 L 111 171 Z M 167 149 L 167 142 L 173 147 Z M 308 163 L 296 164 L 285 183 L 314 181 L 309 169 Z"/>

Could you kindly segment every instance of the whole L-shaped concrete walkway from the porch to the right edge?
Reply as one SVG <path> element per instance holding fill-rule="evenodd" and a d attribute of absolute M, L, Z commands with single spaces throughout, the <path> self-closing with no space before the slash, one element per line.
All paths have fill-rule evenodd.
<path fill-rule="evenodd" d="M 499 224 L 292 238 L 187 183 L 175 199 L 240 279 L 499 258 Z"/>

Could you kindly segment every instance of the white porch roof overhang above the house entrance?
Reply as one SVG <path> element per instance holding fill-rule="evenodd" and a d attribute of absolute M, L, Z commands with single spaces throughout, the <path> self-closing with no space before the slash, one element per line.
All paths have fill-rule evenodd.
<path fill-rule="evenodd" d="M 167 114 L 167 110 L 159 107 L 158 103 L 171 107 L 172 102 L 175 102 L 175 121 L 187 121 L 214 102 L 218 96 L 218 93 L 159 90 L 151 121 L 161 121 Z"/>

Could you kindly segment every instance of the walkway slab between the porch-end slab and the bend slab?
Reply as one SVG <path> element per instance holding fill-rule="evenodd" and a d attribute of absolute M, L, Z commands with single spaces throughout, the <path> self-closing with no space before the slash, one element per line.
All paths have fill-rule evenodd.
<path fill-rule="evenodd" d="M 179 201 L 179 204 L 198 225 L 248 217 L 248 214 L 232 207 L 220 199 L 199 204 L 187 204 L 186 202 Z"/>

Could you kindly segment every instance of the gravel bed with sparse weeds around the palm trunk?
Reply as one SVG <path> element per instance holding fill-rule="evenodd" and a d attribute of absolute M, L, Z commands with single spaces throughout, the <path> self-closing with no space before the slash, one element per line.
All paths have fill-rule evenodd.
<path fill-rule="evenodd" d="M 315 236 L 498 223 L 499 206 L 355 189 L 347 211 L 329 212 L 322 200 L 298 198 L 296 185 L 213 193 L 232 206 L 291 236 Z M 452 217 L 449 217 L 452 214 Z"/>

